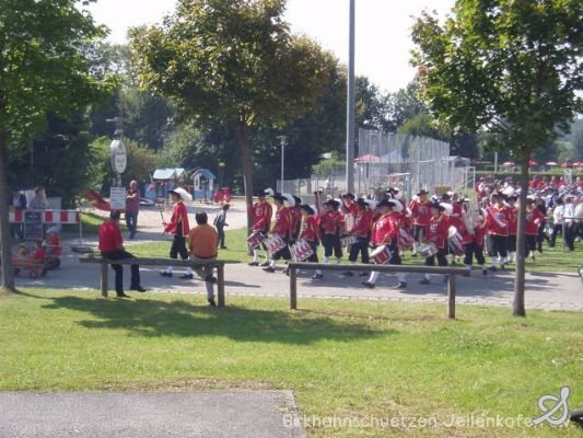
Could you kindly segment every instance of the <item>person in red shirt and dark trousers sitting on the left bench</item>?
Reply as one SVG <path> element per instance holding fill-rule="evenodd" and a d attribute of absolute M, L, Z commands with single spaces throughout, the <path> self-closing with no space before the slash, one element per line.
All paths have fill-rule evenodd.
<path fill-rule="evenodd" d="M 113 210 L 109 212 L 109 219 L 100 226 L 100 252 L 102 257 L 116 261 L 121 258 L 135 258 L 135 256 L 128 253 L 124 247 L 124 239 L 121 238 L 121 231 L 119 230 L 119 210 Z M 115 272 L 115 290 L 119 298 L 127 298 L 124 292 L 124 267 L 121 265 L 112 264 L 112 268 Z M 137 290 L 138 292 L 145 292 L 145 289 L 140 283 L 140 266 L 138 264 L 131 265 L 131 280 L 130 290 Z"/>

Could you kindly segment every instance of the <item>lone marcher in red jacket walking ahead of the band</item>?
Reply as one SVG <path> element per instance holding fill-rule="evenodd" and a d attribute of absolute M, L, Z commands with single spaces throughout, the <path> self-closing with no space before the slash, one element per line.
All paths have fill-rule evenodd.
<path fill-rule="evenodd" d="M 174 203 L 174 209 L 172 210 L 172 218 L 170 222 L 164 222 L 164 233 L 172 234 L 172 246 L 170 249 L 170 257 L 178 258 L 180 254 L 182 260 L 188 258 L 188 250 L 186 249 L 186 239 L 190 231 L 190 224 L 188 223 L 188 210 L 184 205 L 185 200 L 191 200 L 190 194 L 182 187 L 177 187 L 168 192 Z M 160 273 L 163 277 L 172 277 L 174 266 L 170 265 L 166 270 Z M 188 266 L 186 272 L 180 276 L 183 279 L 193 279 L 193 269 Z"/>

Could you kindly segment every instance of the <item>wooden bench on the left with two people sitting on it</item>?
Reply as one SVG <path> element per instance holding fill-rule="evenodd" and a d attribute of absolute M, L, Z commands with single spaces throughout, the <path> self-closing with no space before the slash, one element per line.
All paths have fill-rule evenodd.
<path fill-rule="evenodd" d="M 145 257 L 135 257 L 135 258 L 120 258 L 112 261 L 104 257 L 95 256 L 80 256 L 80 263 L 93 263 L 101 265 L 101 288 L 102 297 L 107 298 L 107 286 L 108 279 L 107 274 L 108 265 L 140 265 L 140 266 L 180 266 L 180 267 L 202 267 L 202 266 L 212 266 L 217 268 L 217 306 L 222 308 L 224 307 L 224 262 L 222 261 L 209 261 L 209 262 L 195 262 L 190 260 L 173 260 L 173 258 L 145 258 Z"/>

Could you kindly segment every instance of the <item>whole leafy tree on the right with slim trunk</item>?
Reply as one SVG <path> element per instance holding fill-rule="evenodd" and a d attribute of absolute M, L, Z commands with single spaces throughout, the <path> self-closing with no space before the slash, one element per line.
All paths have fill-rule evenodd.
<path fill-rule="evenodd" d="M 522 163 L 513 313 L 525 315 L 528 160 L 581 112 L 581 0 L 458 0 L 440 25 L 413 26 L 413 62 L 429 107 L 455 130 L 486 127 Z"/>

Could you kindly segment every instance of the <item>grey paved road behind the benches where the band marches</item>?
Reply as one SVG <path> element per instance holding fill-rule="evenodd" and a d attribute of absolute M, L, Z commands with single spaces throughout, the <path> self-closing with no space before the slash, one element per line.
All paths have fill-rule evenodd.
<path fill-rule="evenodd" d="M 143 242 L 143 241 L 140 241 Z M 93 242 L 93 244 L 95 244 Z M 282 266 L 281 266 L 282 267 Z M 129 281 L 126 268 L 125 283 Z M 320 280 L 312 280 L 312 272 L 299 274 L 298 297 L 301 298 L 342 298 L 397 301 L 446 301 L 445 284 L 440 276 L 433 276 L 431 285 L 420 285 L 421 275 L 409 275 L 406 290 L 392 289 L 397 280 L 395 276 L 382 275 L 375 289 L 361 285 L 365 277 L 343 277 L 340 273 L 325 272 Z M 142 285 L 151 292 L 200 292 L 203 283 L 199 279 L 182 280 L 176 272 L 174 278 L 159 275 L 159 268 L 141 268 Z M 110 275 L 113 287 L 113 273 Z M 50 270 L 46 277 L 32 280 L 19 277 L 18 286 L 47 287 L 66 289 L 100 289 L 98 268 L 95 265 L 80 264 L 78 254 L 68 253 L 62 257 L 62 265 Z M 514 273 L 497 272 L 482 276 L 481 270 L 474 270 L 469 278 L 457 280 L 457 302 L 487 306 L 511 306 L 513 300 Z M 268 274 L 260 267 L 246 264 L 225 266 L 225 291 L 230 295 L 289 297 L 289 278 L 281 274 Z M 583 286 L 576 273 L 527 273 L 525 303 L 527 309 L 546 310 L 583 310 Z"/>

